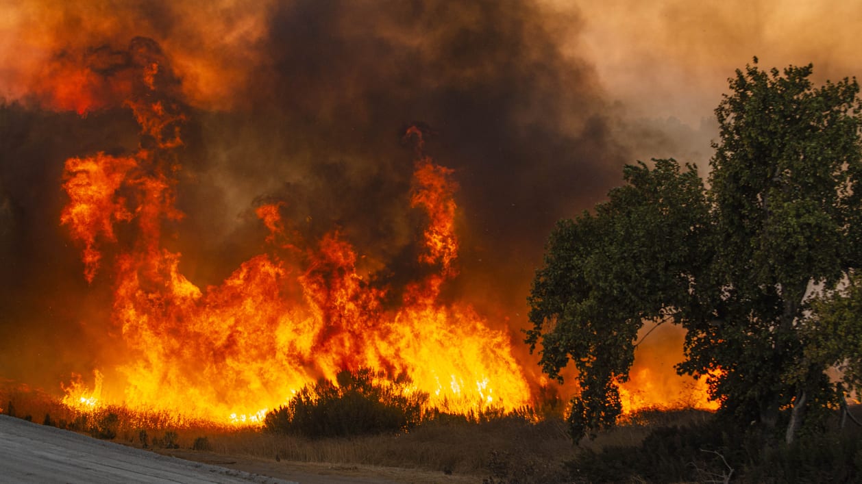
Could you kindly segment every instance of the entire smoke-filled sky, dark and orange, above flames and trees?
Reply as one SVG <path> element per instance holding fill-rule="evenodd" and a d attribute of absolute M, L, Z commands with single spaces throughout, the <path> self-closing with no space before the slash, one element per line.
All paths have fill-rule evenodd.
<path fill-rule="evenodd" d="M 862 2 L 839 1 L 0 0 L 0 364 L 38 360 L 51 380 L 119 351 L 97 344 L 109 282 L 83 280 L 59 185 L 66 158 L 138 142 L 122 102 L 136 36 L 159 45 L 191 119 L 171 242 L 191 280 L 259 251 L 267 201 L 403 279 L 401 138 L 419 123 L 459 184 L 450 292 L 516 334 L 556 220 L 601 202 L 623 164 L 705 174 L 713 109 L 753 56 L 813 63 L 817 82 L 862 75 L 860 26 Z"/>

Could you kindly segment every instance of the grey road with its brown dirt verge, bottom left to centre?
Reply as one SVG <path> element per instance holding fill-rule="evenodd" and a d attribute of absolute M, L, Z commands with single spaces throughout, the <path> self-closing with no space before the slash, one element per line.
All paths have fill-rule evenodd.
<path fill-rule="evenodd" d="M 465 477 L 376 466 L 265 461 L 195 450 L 159 453 L 0 415 L 0 482 L 472 482 Z"/>

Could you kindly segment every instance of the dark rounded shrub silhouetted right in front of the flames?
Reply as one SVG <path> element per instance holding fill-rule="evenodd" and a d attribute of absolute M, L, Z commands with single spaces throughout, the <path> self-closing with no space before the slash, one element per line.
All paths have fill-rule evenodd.
<path fill-rule="evenodd" d="M 335 380 L 303 387 L 287 406 L 267 413 L 266 429 L 305 437 L 403 431 L 419 423 L 428 400 L 409 381 L 385 382 L 371 369 L 341 371 Z"/>

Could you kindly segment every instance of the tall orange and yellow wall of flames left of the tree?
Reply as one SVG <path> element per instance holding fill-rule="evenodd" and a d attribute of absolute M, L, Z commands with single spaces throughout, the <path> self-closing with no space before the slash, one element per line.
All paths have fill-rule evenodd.
<path fill-rule="evenodd" d="M 451 170 L 422 154 L 415 128 L 408 132 L 418 155 L 411 204 L 428 220 L 415 264 L 426 276 L 409 282 L 400 301 L 393 304 L 389 288 L 359 275 L 357 253 L 337 230 L 315 243 L 297 240 L 280 202 L 256 210 L 270 231 L 267 253 L 220 285 L 201 289 L 189 281 L 178 269 L 181 254 L 161 243 L 163 222 L 182 217 L 173 174 L 184 115 L 159 91 L 166 68 L 158 56 L 140 49 L 137 55 L 143 95 L 125 104 L 141 125 L 141 147 L 129 157 L 69 159 L 61 217 L 84 245 L 91 282 L 104 270 L 103 248 L 116 245 L 117 224 L 133 227 L 134 243 L 113 249 L 109 272 L 113 319 L 128 346 L 118 366 L 123 404 L 255 422 L 319 377 L 371 368 L 408 376 L 429 394 L 430 406 L 448 411 L 528 405 L 528 382 L 508 333 L 467 304 L 440 302 L 441 286 L 456 273 L 455 184 Z M 91 402 L 79 385 L 67 393 L 90 395 L 80 401 Z"/>

